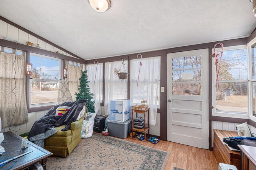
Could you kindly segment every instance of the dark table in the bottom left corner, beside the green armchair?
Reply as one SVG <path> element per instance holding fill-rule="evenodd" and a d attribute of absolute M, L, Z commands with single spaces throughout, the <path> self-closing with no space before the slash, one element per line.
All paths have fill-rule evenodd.
<path fill-rule="evenodd" d="M 4 132 L 4 141 L 2 141 L 1 146 L 4 147 L 4 150 L 8 152 L 10 157 L 15 157 L 20 154 L 32 151 L 28 154 L 25 154 L 19 158 L 17 158 L 16 164 L 11 168 L 11 170 L 24 170 L 28 169 L 33 164 L 39 162 L 43 167 L 44 170 L 46 170 L 46 163 L 47 163 L 47 157 L 52 155 L 51 152 L 38 147 L 32 142 L 28 142 L 28 148 L 21 149 L 21 140 L 22 137 L 12 133 L 12 132 Z M 6 157 L 7 154 L 4 153 L 0 155 L 0 160 L 4 157 Z M 12 160 L 8 164 L 2 166 L 2 169 L 9 168 L 12 166 L 12 164 L 15 162 L 15 160 Z"/>

